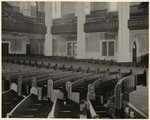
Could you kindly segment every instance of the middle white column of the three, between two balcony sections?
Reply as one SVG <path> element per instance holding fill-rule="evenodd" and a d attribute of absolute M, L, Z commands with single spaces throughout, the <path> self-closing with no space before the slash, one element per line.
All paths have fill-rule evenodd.
<path fill-rule="evenodd" d="M 85 2 L 78 2 L 77 4 L 77 58 L 85 59 Z"/>

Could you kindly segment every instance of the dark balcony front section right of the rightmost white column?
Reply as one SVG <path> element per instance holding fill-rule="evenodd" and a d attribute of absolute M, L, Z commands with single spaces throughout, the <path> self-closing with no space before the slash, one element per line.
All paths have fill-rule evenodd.
<path fill-rule="evenodd" d="M 128 20 L 130 30 L 148 29 L 148 15 L 132 17 Z"/>

